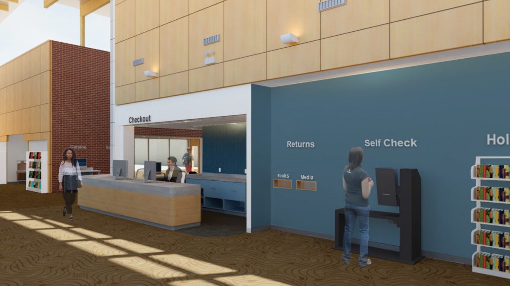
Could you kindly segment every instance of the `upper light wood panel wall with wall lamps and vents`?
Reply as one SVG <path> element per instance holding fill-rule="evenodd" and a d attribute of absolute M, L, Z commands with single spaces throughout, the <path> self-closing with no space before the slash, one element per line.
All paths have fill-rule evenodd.
<path fill-rule="evenodd" d="M 317 3 L 117 0 L 116 104 L 510 40 L 508 0 L 356 0 L 323 12 Z M 299 42 L 283 44 L 286 33 Z M 208 51 L 215 62 L 206 66 Z M 15 67 L 0 70 L 0 86 L 23 77 Z M 143 75 L 149 69 L 159 80 Z"/>

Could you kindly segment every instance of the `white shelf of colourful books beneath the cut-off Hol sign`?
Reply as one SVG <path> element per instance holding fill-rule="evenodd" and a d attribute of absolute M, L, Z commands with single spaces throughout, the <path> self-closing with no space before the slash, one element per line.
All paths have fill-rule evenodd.
<path fill-rule="evenodd" d="M 483 164 L 482 160 L 505 165 Z M 471 166 L 471 179 L 476 180 L 476 186 L 470 193 L 471 201 L 476 202 L 471 210 L 471 222 L 476 223 L 471 232 L 471 244 L 476 245 L 472 256 L 473 272 L 507 279 L 510 279 L 509 164 L 510 157 L 476 157 L 475 165 Z M 486 228 L 498 229 L 482 228 L 486 225 L 491 226 Z M 507 253 L 493 253 L 496 250 Z"/>

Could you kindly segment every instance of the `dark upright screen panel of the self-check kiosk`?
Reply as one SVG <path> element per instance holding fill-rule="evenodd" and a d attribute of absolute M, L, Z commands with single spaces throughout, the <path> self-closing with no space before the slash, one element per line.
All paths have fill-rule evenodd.
<path fill-rule="evenodd" d="M 399 206 L 396 168 L 375 168 L 377 203 L 384 206 Z"/>

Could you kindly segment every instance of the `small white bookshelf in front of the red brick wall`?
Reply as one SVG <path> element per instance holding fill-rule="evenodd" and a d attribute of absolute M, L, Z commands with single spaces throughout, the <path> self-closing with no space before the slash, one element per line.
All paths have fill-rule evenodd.
<path fill-rule="evenodd" d="M 27 182 L 28 191 L 48 192 L 48 152 L 27 152 Z"/>

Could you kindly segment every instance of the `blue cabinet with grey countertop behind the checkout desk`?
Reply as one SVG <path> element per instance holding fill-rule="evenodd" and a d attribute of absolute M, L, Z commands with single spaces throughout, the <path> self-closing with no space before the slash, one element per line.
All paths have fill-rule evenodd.
<path fill-rule="evenodd" d="M 202 207 L 246 213 L 246 183 L 187 178 L 202 187 Z"/>

